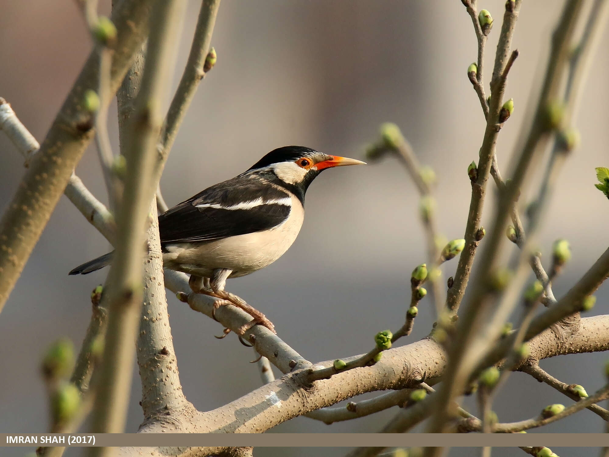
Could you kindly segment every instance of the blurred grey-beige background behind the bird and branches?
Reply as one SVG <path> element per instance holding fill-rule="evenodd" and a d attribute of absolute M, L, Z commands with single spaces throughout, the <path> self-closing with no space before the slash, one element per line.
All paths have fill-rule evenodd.
<path fill-rule="evenodd" d="M 488 90 L 505 2 L 479 3 L 495 17 L 485 60 Z M 73 0 L 1 4 L 0 96 L 42 141 L 90 52 L 91 40 Z M 521 10 L 513 41 L 520 56 L 506 91 L 506 97 L 514 99 L 515 112 L 501 130 L 497 150 L 504 176 L 509 176 L 509 159 L 521 135 L 526 105 L 535 101 L 549 36 L 562 4 L 524 2 Z M 199 5 L 189 2 L 172 91 L 186 62 Z M 109 11 L 110 0 L 100 1 L 100 12 Z M 435 169 L 442 233 L 448 239 L 462 238 L 471 190 L 466 168 L 477 160 L 485 123 L 466 76 L 466 68 L 476 59 L 476 37 L 460 1 L 223 0 L 212 44 L 217 65 L 200 85 L 161 180 L 170 206 L 239 174 L 278 146 L 300 144 L 362 159 L 365 145 L 378 136 L 379 124 L 393 121 L 421 162 Z M 605 32 L 599 49 L 608 45 Z M 554 239 L 567 238 L 572 246 L 572 260 L 554 284 L 557 297 L 609 245 L 609 202 L 593 186 L 594 167 L 609 166 L 608 72 L 609 54 L 600 51 L 575 122 L 582 134 L 581 146 L 563 169 L 541 229 L 546 267 Z M 113 105 L 110 133 L 118 151 L 115 113 Z M 4 211 L 23 174 L 23 158 L 3 134 L 0 150 L 0 211 Z M 93 147 L 80 161 L 77 174 L 107 202 Z M 490 181 L 487 227 L 494 188 Z M 521 200 L 526 203 L 526 198 Z M 309 189 L 308 215 L 294 246 L 266 269 L 231 280 L 228 289 L 264 312 L 281 338 L 308 360 L 366 352 L 377 331 L 400 325 L 410 271 L 427 260 L 417 204 L 414 185 L 393 159 L 328 171 Z M 68 271 L 108 249 L 105 239 L 62 197 L 0 316 L 0 364 L 5 367 L 0 377 L 1 431 L 48 429 L 41 355 L 60 336 L 80 346 L 91 314 L 91 289 L 107 274 L 103 270 L 68 277 Z M 454 274 L 456 266 L 457 260 L 446 263 L 445 277 Z M 607 313 L 606 285 L 597 297 L 590 314 Z M 169 312 L 183 389 L 197 408 L 216 408 L 259 386 L 256 365 L 248 363 L 255 358 L 252 350 L 234 336 L 213 338 L 221 333 L 220 325 L 195 314 L 171 293 Z M 425 336 L 433 321 L 432 304 L 423 300 L 414 331 L 402 344 Z M 544 360 L 541 366 L 591 393 L 605 383 L 605 360 L 604 353 L 569 355 Z M 136 431 L 143 419 L 140 394 L 136 367 L 127 431 Z M 571 400 L 515 373 L 494 409 L 499 420 L 510 422 L 535 416 L 549 403 L 568 405 Z M 469 399 L 466 405 L 475 409 Z M 301 417 L 270 432 L 378 431 L 395 413 L 394 408 L 331 426 Z M 540 431 L 604 429 L 599 417 L 583 410 Z M 7 448 L 2 454 L 18 456 L 24 450 Z M 583 452 L 565 448 L 560 455 Z M 286 453 L 329 456 L 342 455 L 343 450 L 255 451 L 257 457 Z M 451 455 L 470 453 L 455 449 Z M 493 453 L 516 454 L 523 453 L 510 449 Z"/>

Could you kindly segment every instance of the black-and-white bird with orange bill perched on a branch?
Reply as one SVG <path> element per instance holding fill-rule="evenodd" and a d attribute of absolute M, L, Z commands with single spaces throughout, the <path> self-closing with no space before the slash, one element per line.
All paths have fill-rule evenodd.
<path fill-rule="evenodd" d="M 264 268 L 294 243 L 305 216 L 305 194 L 328 168 L 365 165 L 348 157 L 305 146 L 283 146 L 247 171 L 206 188 L 158 216 L 163 268 L 190 275 L 192 291 L 216 297 L 215 311 L 235 305 L 253 317 L 238 335 L 261 324 L 275 327 L 260 311 L 226 291 L 228 278 Z M 88 274 L 111 263 L 113 252 L 77 266 L 70 275 Z M 225 328 L 224 336 L 230 332 Z M 223 337 L 220 337 L 223 338 Z"/>

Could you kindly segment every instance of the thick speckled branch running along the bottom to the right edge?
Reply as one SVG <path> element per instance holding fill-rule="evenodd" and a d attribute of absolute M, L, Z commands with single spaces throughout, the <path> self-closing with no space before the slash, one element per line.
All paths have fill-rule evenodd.
<path fill-rule="evenodd" d="M 556 335 L 550 332 L 534 338 L 530 346 L 540 347 L 540 352 L 536 356 L 541 355 L 542 358 L 558 353 L 609 349 L 606 338 L 599 336 L 593 341 L 589 338 L 590 335 L 595 334 L 607 335 L 609 316 L 588 317 L 582 319 L 582 322 L 585 323 L 585 327 L 574 331 L 571 335 Z M 325 361 L 319 365 L 330 366 L 332 363 Z M 438 380 L 443 375 L 445 366 L 446 356 L 440 345 L 429 339 L 423 339 L 385 351 L 382 360 L 374 366 L 349 370 L 334 375 L 329 380 L 315 381 L 311 386 L 302 383 L 306 377 L 306 370 L 299 370 L 208 413 L 197 412 L 185 415 L 181 411 L 170 410 L 167 411 L 169 413 L 167 415 L 149 417 L 140 431 L 143 433 L 158 431 L 261 433 L 292 417 L 324 408 L 354 395 L 382 389 L 414 387 L 420 382 L 423 373 L 428 380 Z M 396 370 L 395 367 L 401 367 L 401 370 Z M 306 395 L 303 395 L 303 389 L 306 389 Z M 431 414 L 429 408 L 431 403 L 428 400 L 432 397 L 434 395 L 428 395 L 426 399 L 404 411 L 404 413 L 407 411 L 417 413 L 415 419 L 409 420 L 410 426 L 416 425 Z M 171 455 L 203 457 L 220 451 L 219 448 L 187 450 L 172 448 Z M 139 455 L 152 455 L 153 452 L 158 452 L 158 449 L 125 448 L 119 455 L 131 455 L 133 452 L 138 452 Z"/>

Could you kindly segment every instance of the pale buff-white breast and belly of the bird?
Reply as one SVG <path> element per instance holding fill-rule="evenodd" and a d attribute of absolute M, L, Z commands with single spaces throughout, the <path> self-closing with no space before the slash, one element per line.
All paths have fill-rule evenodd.
<path fill-rule="evenodd" d="M 205 244 L 167 246 L 169 252 L 163 254 L 163 266 L 203 277 L 211 276 L 218 268 L 233 270 L 230 277 L 250 274 L 273 263 L 292 246 L 304 214 L 300 201 L 292 197 L 292 210 L 283 224 Z"/>

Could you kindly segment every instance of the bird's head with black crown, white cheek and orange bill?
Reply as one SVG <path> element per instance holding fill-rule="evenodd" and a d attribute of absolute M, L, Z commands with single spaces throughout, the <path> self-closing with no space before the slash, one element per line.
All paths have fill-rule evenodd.
<path fill-rule="evenodd" d="M 365 162 L 323 154 L 305 146 L 284 146 L 262 157 L 248 172 L 272 172 L 287 185 L 296 186 L 304 192 L 323 170 L 344 165 L 365 165 Z"/>

